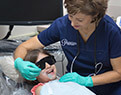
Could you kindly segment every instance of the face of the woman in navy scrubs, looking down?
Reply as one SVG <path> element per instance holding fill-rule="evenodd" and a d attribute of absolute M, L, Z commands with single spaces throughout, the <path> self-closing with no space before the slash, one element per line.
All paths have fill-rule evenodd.
<path fill-rule="evenodd" d="M 82 13 L 77 13 L 75 15 L 69 14 L 69 20 L 76 30 L 87 29 L 92 24 L 92 16 Z"/>

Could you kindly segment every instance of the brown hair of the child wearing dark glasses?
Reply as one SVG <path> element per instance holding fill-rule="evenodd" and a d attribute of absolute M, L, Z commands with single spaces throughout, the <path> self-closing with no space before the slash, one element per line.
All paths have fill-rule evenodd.
<path fill-rule="evenodd" d="M 27 52 L 27 54 L 26 54 L 26 56 L 24 58 L 24 61 L 30 61 L 32 63 L 36 63 L 39 53 L 46 54 L 46 55 L 50 56 L 50 54 L 46 50 L 44 50 L 42 48 L 34 49 L 34 50 L 31 50 L 31 51 Z M 30 84 L 30 85 L 36 85 L 36 84 L 39 83 L 38 80 L 30 81 L 30 80 L 26 80 L 26 79 L 25 79 L 25 82 L 27 84 Z"/>

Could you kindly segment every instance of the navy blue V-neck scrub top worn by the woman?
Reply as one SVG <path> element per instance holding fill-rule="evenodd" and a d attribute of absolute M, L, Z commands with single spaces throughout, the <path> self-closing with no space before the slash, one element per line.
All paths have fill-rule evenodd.
<path fill-rule="evenodd" d="M 67 70 L 69 72 L 71 63 L 78 51 L 77 32 L 71 26 L 68 15 L 65 15 L 56 19 L 48 29 L 38 35 L 39 41 L 45 46 L 57 41 L 61 42 L 62 49 L 68 59 Z M 88 76 L 95 72 L 95 57 L 97 63 L 101 62 L 103 64 L 98 73 L 100 74 L 112 70 L 111 58 L 121 56 L 121 30 L 108 15 L 101 19 L 96 30 L 86 43 L 81 35 L 79 35 L 79 39 L 80 54 L 75 60 L 73 72 L 77 72 L 80 75 Z M 94 52 L 96 52 L 96 56 L 94 56 Z M 97 67 L 97 69 L 99 68 L 100 66 Z"/>

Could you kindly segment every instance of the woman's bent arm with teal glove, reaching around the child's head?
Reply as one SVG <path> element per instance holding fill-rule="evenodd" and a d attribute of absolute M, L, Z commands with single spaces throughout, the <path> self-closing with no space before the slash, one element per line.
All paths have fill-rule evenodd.
<path fill-rule="evenodd" d="M 22 77 L 27 80 L 36 80 L 36 77 L 40 74 L 41 69 L 32 62 L 24 61 L 23 59 L 28 50 L 42 47 L 44 46 L 40 43 L 37 36 L 35 36 L 19 45 L 14 52 L 14 66 L 21 73 Z"/>

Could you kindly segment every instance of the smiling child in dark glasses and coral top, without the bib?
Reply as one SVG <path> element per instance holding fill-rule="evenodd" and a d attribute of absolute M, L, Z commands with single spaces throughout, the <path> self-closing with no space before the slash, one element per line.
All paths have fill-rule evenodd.
<path fill-rule="evenodd" d="M 43 83 L 47 83 L 48 81 L 56 79 L 56 67 L 55 67 L 56 60 L 54 59 L 54 56 L 50 55 L 44 49 L 34 49 L 32 51 L 28 51 L 24 60 L 33 62 L 35 63 L 35 65 L 37 65 L 39 68 L 42 69 L 40 75 L 36 77 L 37 80 L 35 81 L 25 80 L 27 83 L 33 85 L 39 83 L 38 85 L 34 86 L 33 89 L 31 90 L 33 95 L 37 95 L 35 94 L 35 90 L 38 86 L 39 86 L 38 90 L 40 90 L 41 86 L 43 86 Z"/>

